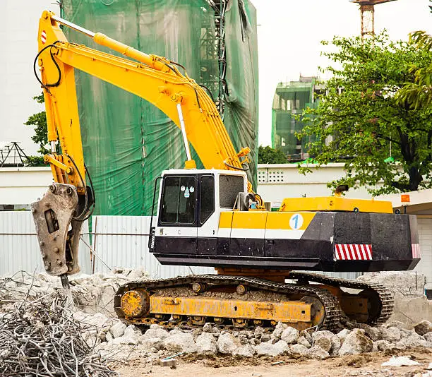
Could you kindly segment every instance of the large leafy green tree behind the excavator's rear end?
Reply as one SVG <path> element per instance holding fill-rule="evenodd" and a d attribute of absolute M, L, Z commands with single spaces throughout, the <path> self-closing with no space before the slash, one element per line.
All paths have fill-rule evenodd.
<path fill-rule="evenodd" d="M 430 50 L 412 40 L 391 42 L 385 33 L 364 42 L 335 37 L 332 47 L 324 53 L 332 64 L 323 70 L 332 78 L 318 107 L 304 112 L 306 126 L 297 135 L 317 136 L 307 146 L 318 165 L 344 162 L 345 176 L 329 186 L 366 186 L 376 195 L 432 187 L 431 116 L 395 95 L 415 82 L 412 66 L 430 65 Z"/>

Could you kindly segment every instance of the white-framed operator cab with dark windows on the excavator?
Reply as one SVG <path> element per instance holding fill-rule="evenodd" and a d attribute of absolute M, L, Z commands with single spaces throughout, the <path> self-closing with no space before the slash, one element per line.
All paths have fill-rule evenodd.
<path fill-rule="evenodd" d="M 215 255 L 220 213 L 233 210 L 239 193 L 246 195 L 246 173 L 171 169 L 161 178 L 150 252 Z"/>

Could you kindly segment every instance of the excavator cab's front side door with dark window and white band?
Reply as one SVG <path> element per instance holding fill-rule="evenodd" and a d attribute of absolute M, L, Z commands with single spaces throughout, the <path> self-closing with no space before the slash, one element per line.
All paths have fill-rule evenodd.
<path fill-rule="evenodd" d="M 167 175 L 155 229 L 155 253 L 196 254 L 197 176 Z"/>

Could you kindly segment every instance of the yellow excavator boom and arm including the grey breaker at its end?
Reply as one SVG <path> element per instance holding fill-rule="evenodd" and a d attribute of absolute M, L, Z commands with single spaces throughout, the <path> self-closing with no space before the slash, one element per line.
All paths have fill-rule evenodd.
<path fill-rule="evenodd" d="M 70 43 L 60 24 L 83 32 L 97 44 L 130 59 Z M 51 166 L 55 183 L 40 201 L 32 203 L 32 212 L 49 274 L 66 277 L 79 271 L 80 228 L 95 205 L 91 179 L 90 186 L 86 184 L 75 68 L 138 95 L 167 114 L 181 129 L 186 169 L 196 167 L 189 142 L 206 169 L 245 169 L 249 148 L 236 152 L 215 104 L 186 71 L 179 71 L 179 64 L 140 52 L 100 32 L 80 28 L 49 11 L 44 11 L 40 18 L 38 47 L 35 74 L 37 65 L 51 145 L 51 153 L 44 160 Z M 252 190 L 250 183 L 248 190 Z"/>

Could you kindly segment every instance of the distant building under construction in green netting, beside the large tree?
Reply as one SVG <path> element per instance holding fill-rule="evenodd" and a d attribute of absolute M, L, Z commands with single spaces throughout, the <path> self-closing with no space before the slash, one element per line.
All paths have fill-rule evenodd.
<path fill-rule="evenodd" d="M 307 107 L 316 106 L 320 90 L 322 87 L 316 84 L 316 77 L 300 76 L 299 81 L 277 85 L 272 105 L 272 148 L 282 150 L 289 160 L 309 157 L 305 144 L 313 140 L 296 138 L 296 132 L 304 127 L 298 116 Z"/>

